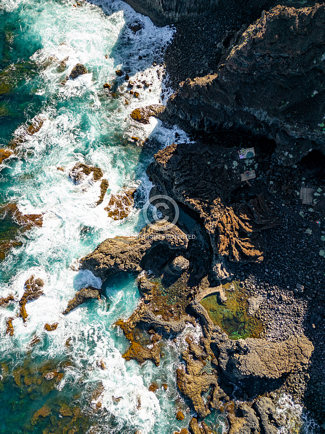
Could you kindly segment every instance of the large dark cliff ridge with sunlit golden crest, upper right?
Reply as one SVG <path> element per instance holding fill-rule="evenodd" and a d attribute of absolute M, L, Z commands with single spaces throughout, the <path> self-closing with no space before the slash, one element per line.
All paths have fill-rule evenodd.
<path fill-rule="evenodd" d="M 215 74 L 188 79 L 167 112 L 204 131 L 238 128 L 277 143 L 284 164 L 325 153 L 325 4 L 276 6 L 225 39 Z"/>

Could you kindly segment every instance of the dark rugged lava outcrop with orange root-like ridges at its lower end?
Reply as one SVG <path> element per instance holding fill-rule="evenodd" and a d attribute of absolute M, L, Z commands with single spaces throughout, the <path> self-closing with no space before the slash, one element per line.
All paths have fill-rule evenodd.
<path fill-rule="evenodd" d="M 172 197 L 203 223 L 213 250 L 211 270 L 217 280 L 229 276 L 230 261 L 261 261 L 262 229 L 279 224 L 262 195 L 246 204 L 227 206 L 240 185 L 238 148 L 172 144 L 155 155 L 147 169 L 155 194 Z M 162 212 L 165 210 L 162 208 Z"/>

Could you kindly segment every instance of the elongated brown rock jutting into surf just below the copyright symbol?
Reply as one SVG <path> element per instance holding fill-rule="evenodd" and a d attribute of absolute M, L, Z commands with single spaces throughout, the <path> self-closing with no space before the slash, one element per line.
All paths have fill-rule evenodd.
<path fill-rule="evenodd" d="M 115 237 L 103 241 L 94 252 L 81 259 L 82 268 L 102 281 L 119 272 L 140 272 L 150 263 L 160 267 L 170 256 L 186 250 L 188 239 L 177 226 L 166 232 L 164 225 L 146 226 L 137 238 Z"/>

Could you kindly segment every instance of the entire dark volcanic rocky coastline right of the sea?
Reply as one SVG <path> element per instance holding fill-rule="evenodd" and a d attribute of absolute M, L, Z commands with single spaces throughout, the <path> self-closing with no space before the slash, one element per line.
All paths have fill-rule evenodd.
<path fill-rule="evenodd" d="M 210 17 L 219 33 L 206 28 L 209 21 L 200 27 L 196 15 L 196 40 L 215 38 L 207 48 L 213 60 L 208 52 L 198 68 L 196 46 L 180 67 L 193 17 L 185 25 L 182 14 L 176 19 L 162 5 L 139 2 L 159 24 L 178 22 L 166 71 L 174 87 L 187 79 L 166 110 L 149 107 L 132 118 L 146 123 L 156 115 L 195 139 L 158 151 L 147 169 L 150 197 L 168 196 L 181 214 L 172 228 L 153 222 L 136 238 L 107 239 L 81 267 L 102 282 L 137 276 L 141 302 L 116 323 L 130 340 L 126 360 L 158 365 L 162 338 L 201 326 L 199 342 L 187 338 L 184 367 L 175 373 L 197 414 L 192 434 L 211 432 L 204 418 L 214 409 L 226 412 L 228 433 L 277 433 L 276 397 L 283 393 L 324 432 L 325 5 L 309 3 L 269 4 L 269 11 L 251 4 L 246 25 L 230 14 L 231 29 Z M 252 147 L 255 158 L 240 161 L 240 149 Z M 257 178 L 243 183 L 241 173 L 253 167 Z M 298 196 L 305 182 L 319 191 L 309 208 Z M 164 205 L 162 215 L 174 217 Z"/>

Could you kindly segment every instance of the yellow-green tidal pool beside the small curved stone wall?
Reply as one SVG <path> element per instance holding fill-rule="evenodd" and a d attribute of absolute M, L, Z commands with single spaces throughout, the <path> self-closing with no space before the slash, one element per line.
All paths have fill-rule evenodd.
<path fill-rule="evenodd" d="M 229 290 L 230 285 L 232 286 Z M 226 284 L 224 290 L 227 294 L 225 303 L 221 303 L 218 295 L 208 295 L 201 300 L 202 306 L 207 310 L 215 325 L 224 330 L 229 339 L 258 338 L 263 325 L 255 317 L 247 315 L 247 296 L 238 286 L 237 282 Z"/>

